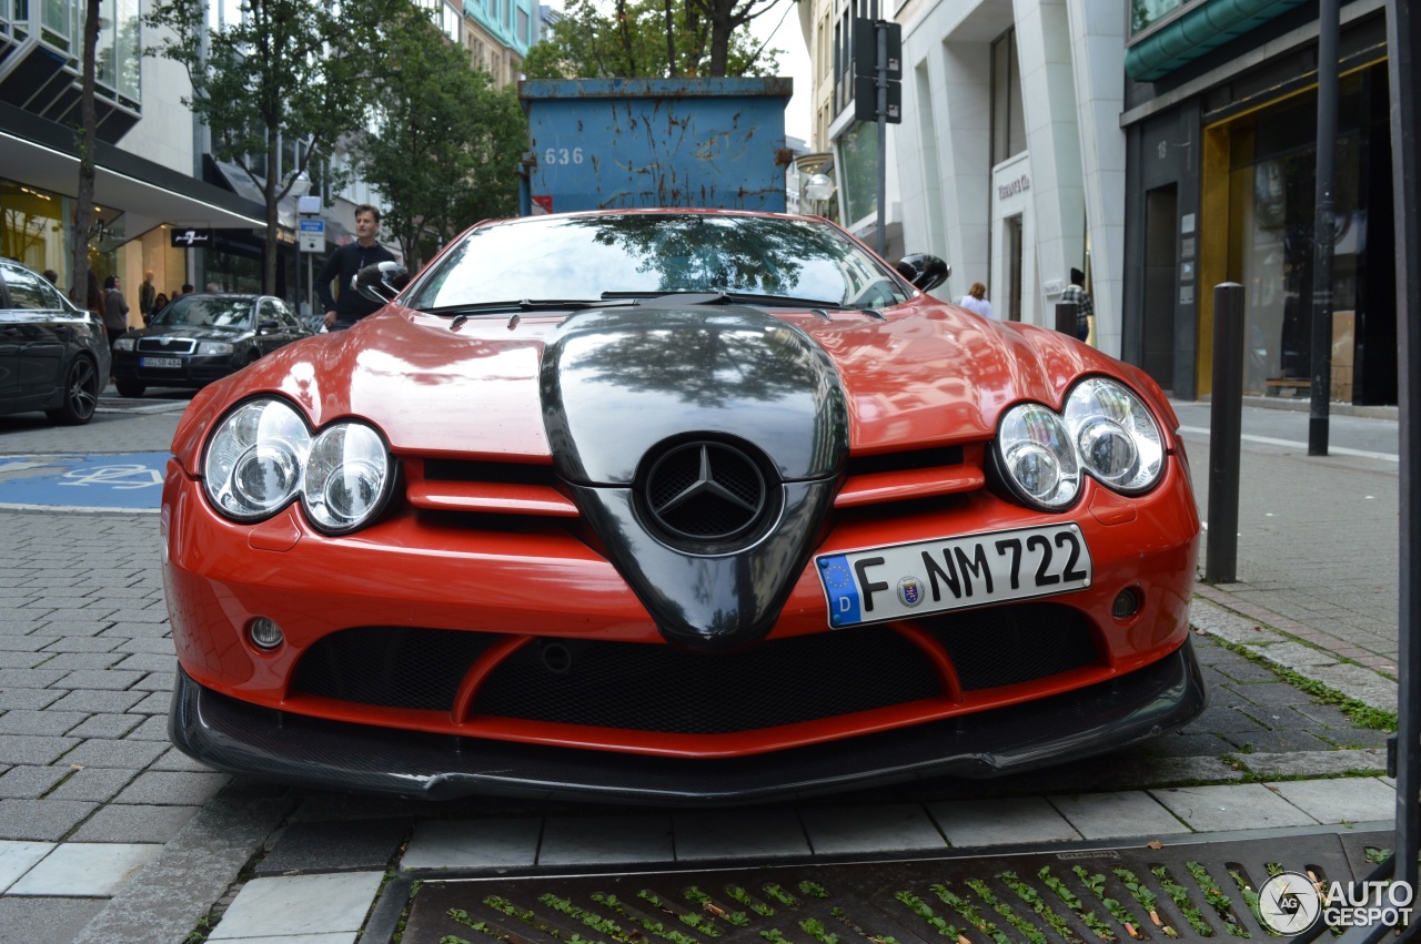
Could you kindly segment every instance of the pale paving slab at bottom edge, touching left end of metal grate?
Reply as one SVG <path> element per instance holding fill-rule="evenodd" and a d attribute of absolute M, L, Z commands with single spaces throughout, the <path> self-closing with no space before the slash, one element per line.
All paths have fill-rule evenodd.
<path fill-rule="evenodd" d="M 348 872 L 253 879 L 207 940 L 360 931 L 384 877 L 384 872 Z"/>

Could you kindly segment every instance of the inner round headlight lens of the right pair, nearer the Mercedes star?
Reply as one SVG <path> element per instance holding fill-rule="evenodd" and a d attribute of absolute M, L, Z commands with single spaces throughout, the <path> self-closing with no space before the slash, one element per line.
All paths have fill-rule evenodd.
<path fill-rule="evenodd" d="M 1040 403 L 1013 406 L 996 437 L 1002 471 L 1027 503 L 1064 508 L 1080 491 L 1080 464 L 1066 424 Z"/>

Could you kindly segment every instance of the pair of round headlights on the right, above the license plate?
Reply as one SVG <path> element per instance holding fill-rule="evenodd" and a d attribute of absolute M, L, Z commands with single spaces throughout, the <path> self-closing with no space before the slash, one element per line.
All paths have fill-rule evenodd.
<path fill-rule="evenodd" d="M 1080 494 L 1081 474 L 1137 495 L 1164 473 L 1160 426 L 1134 392 L 1115 380 L 1077 383 L 1060 413 L 1019 403 L 1002 417 L 996 464 L 1023 503 L 1060 511 Z"/>

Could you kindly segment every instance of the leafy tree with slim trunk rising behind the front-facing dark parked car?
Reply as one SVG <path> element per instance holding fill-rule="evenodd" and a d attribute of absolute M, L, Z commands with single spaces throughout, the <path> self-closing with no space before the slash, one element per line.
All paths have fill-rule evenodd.
<path fill-rule="evenodd" d="M 328 153 L 342 135 L 364 126 L 379 71 L 372 54 L 378 26 L 406 6 L 408 0 L 338 9 L 313 0 L 243 0 L 240 23 L 209 30 L 209 0 L 159 0 L 144 18 L 168 31 L 146 53 L 188 70 L 193 91 L 185 104 L 212 131 L 213 153 L 261 189 L 267 292 L 276 291 L 277 204 L 313 155 Z M 307 146 L 298 149 L 294 168 L 277 172 L 281 138 Z"/>

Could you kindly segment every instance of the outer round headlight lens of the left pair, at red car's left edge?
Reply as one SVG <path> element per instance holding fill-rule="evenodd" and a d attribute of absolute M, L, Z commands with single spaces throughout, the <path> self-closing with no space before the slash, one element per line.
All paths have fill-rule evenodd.
<path fill-rule="evenodd" d="M 283 400 L 243 403 L 207 441 L 203 488 L 229 518 L 257 521 L 286 507 L 301 488 L 311 434 Z"/>

